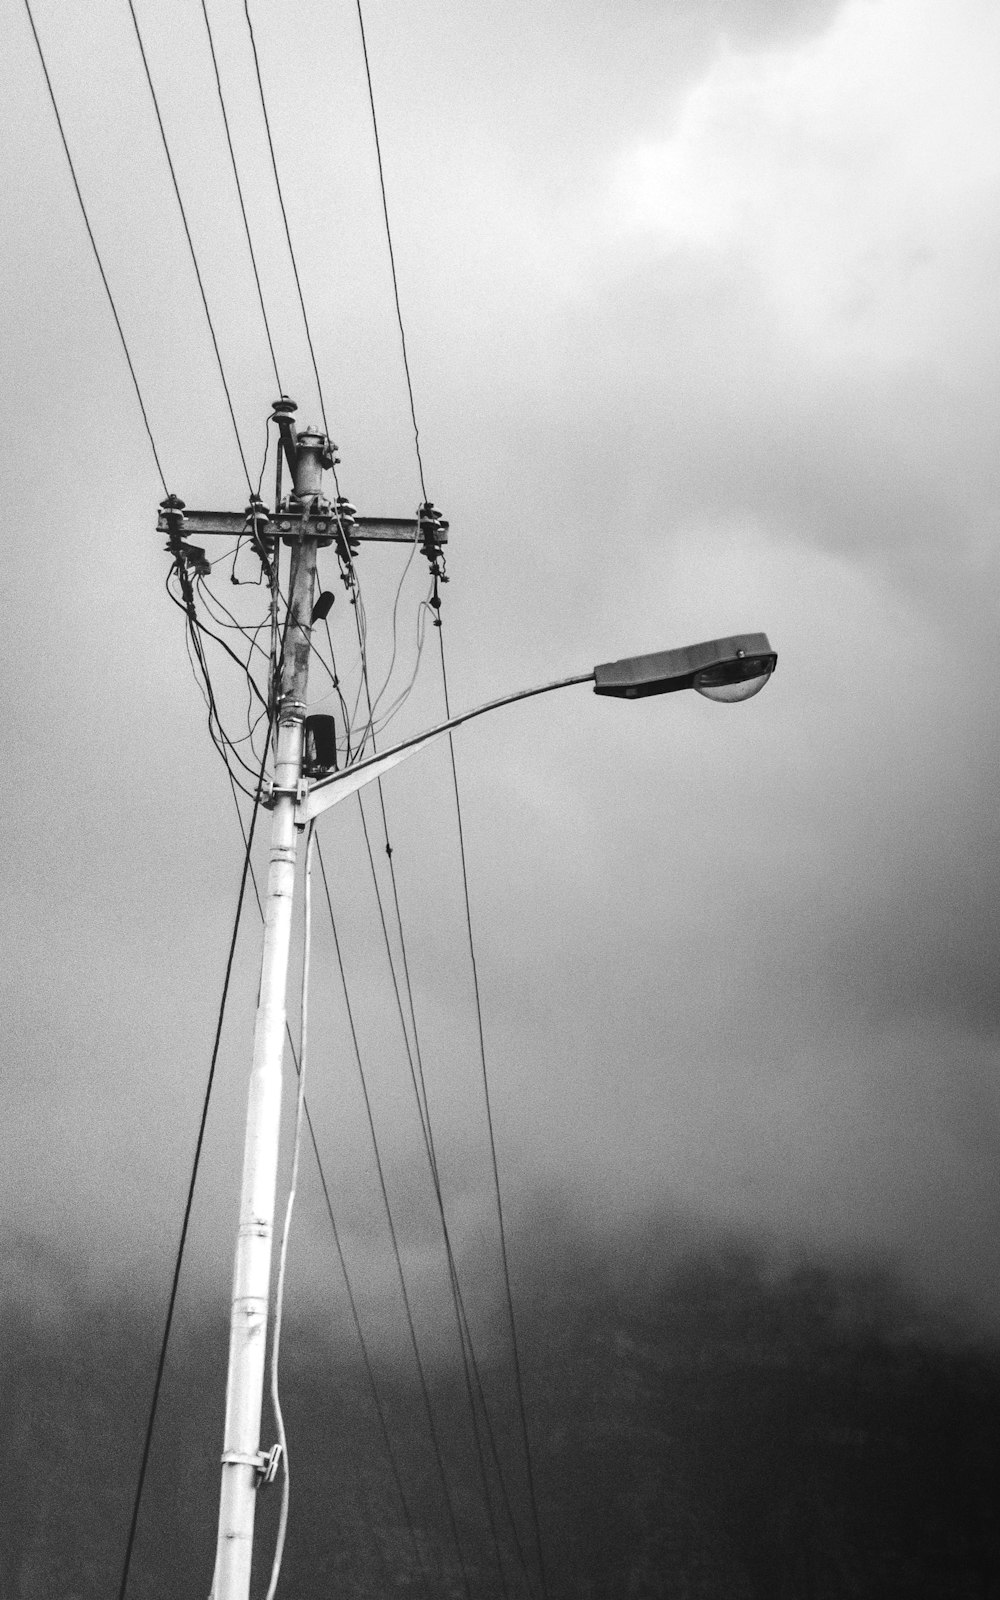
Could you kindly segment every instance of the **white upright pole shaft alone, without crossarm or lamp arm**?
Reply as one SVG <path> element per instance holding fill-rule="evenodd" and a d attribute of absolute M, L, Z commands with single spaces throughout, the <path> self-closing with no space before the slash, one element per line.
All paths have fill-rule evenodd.
<path fill-rule="evenodd" d="M 325 435 L 299 434 L 296 494 L 306 512 L 312 496 L 320 493 L 325 450 Z M 302 522 L 302 538 L 291 546 L 290 606 L 278 686 L 275 800 L 229 1325 L 226 1434 L 213 1600 L 248 1600 L 254 1504 L 266 1466 L 266 1458 L 261 1453 L 261 1405 L 282 1123 L 285 989 L 299 832 L 294 810 L 302 776 L 302 723 L 317 552 L 317 541 L 306 536 L 306 526 Z"/>

